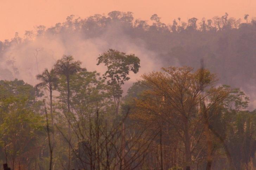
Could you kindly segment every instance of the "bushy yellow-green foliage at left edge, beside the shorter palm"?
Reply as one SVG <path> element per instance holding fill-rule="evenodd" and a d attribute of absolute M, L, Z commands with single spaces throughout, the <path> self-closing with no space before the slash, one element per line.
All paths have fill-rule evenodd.
<path fill-rule="evenodd" d="M 30 165 L 38 156 L 38 142 L 44 136 L 42 102 L 39 92 L 22 80 L 1 81 L 0 96 L 0 141 L 2 158 Z M 27 158 L 27 159 L 26 159 Z"/>

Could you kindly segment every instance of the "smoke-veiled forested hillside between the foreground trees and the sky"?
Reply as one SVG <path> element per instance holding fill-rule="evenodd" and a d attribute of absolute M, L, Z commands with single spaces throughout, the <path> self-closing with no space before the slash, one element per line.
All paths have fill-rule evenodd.
<path fill-rule="evenodd" d="M 250 96 L 250 105 L 256 104 L 253 17 L 236 19 L 224 13 L 201 20 L 176 18 L 168 25 L 154 14 L 149 21 L 152 24 L 134 18 L 131 12 L 113 11 L 87 18 L 70 15 L 55 26 L 41 25 L 25 35 L 17 33 L 11 40 L 0 42 L 0 77 L 36 84 L 36 74 L 63 54 L 72 54 L 89 70 L 102 72 L 103 68 L 95 65 L 96 58 L 113 48 L 140 56 L 142 67 L 132 81 L 169 65 L 199 68 L 203 59 L 205 67 L 217 73 L 219 83 L 240 87 Z"/>

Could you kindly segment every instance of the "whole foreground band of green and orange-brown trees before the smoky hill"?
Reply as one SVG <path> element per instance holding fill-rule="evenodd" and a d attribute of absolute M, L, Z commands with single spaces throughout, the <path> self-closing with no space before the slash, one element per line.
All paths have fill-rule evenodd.
<path fill-rule="evenodd" d="M 0 81 L 1 163 L 11 169 L 255 169 L 256 112 L 239 89 L 204 68 L 143 74 L 140 59 L 109 49 L 104 74 L 63 55 L 52 69 Z M 104 65 L 104 66 L 103 66 Z"/>

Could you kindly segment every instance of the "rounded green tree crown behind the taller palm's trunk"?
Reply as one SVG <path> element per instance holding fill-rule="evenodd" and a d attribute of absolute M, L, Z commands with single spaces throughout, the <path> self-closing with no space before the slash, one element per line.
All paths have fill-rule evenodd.
<path fill-rule="evenodd" d="M 105 99 L 110 97 L 107 93 L 108 87 L 104 84 L 104 79 L 96 71 L 89 72 L 85 68 L 77 74 L 70 76 L 70 92 L 71 92 L 71 107 L 78 111 L 92 111 L 96 104 L 102 107 Z M 58 98 L 65 105 L 66 103 L 66 80 L 65 77 L 60 77 L 58 91 L 60 95 Z M 90 110 L 90 111 L 89 111 Z"/>

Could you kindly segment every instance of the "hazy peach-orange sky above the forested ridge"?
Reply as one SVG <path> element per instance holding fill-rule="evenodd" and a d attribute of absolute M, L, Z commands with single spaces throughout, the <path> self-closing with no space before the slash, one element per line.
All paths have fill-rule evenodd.
<path fill-rule="evenodd" d="M 0 0 L 0 40 L 10 39 L 15 32 L 22 37 L 34 26 L 55 25 L 68 15 L 85 18 L 110 11 L 131 11 L 135 18 L 149 20 L 156 13 L 165 23 L 174 18 L 201 19 L 223 15 L 235 18 L 244 14 L 256 17 L 256 0 Z"/>

